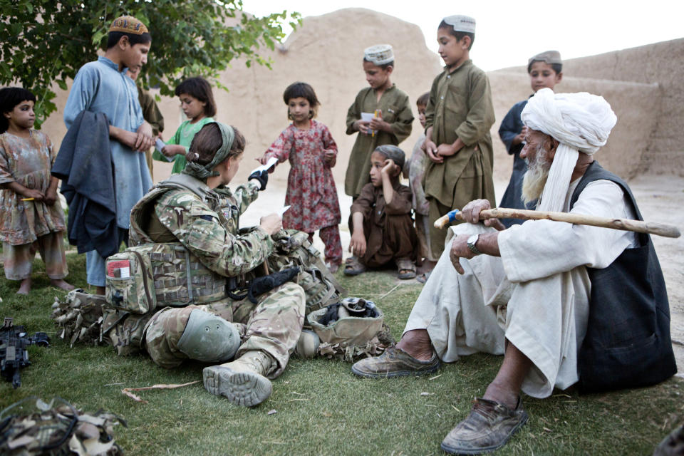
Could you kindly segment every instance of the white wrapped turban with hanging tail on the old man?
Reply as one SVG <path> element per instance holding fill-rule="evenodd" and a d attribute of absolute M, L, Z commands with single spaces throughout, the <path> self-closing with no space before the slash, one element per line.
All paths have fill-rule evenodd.
<path fill-rule="evenodd" d="M 537 207 L 560 212 L 579 152 L 594 155 L 606 144 L 618 119 L 601 96 L 586 92 L 554 93 L 550 88 L 538 90 L 520 117 L 528 128 L 560 142 Z"/>

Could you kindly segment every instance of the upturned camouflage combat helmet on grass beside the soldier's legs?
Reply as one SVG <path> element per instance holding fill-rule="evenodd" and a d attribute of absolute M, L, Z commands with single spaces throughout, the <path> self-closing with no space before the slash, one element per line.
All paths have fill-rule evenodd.
<path fill-rule="evenodd" d="M 306 317 L 321 341 L 318 354 L 350 362 L 378 356 L 394 343 L 383 319 L 373 301 L 361 298 L 345 298 Z"/>

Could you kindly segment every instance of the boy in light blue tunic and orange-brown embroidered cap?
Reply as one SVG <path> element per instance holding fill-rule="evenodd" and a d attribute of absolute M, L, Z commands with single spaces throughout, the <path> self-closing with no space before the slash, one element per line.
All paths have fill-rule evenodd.
<path fill-rule="evenodd" d="M 66 128 L 84 110 L 104 113 L 109 120 L 116 224 L 119 239 L 125 242 L 128 242 L 130 209 L 152 187 L 145 150 L 154 144 L 152 127 L 142 118 L 138 88 L 126 73 L 128 68 L 137 69 L 147 63 L 151 43 L 147 27 L 138 19 L 133 16 L 115 19 L 109 28 L 105 55 L 78 70 L 64 107 Z M 86 252 L 86 269 L 88 284 L 96 287 L 96 293 L 104 294 L 105 258 L 97 250 Z"/>

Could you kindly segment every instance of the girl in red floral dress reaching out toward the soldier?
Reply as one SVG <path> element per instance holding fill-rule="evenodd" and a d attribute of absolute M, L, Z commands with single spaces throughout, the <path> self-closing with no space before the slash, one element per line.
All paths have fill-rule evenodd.
<path fill-rule="evenodd" d="M 342 264 L 340 203 L 331 171 L 337 160 L 337 144 L 328 127 L 314 120 L 320 105 L 314 88 L 292 83 L 285 89 L 283 100 L 292 123 L 258 160 L 262 165 L 271 157 L 278 162 L 290 161 L 285 205 L 291 207 L 283 214 L 283 227 L 309 233 L 309 241 L 318 230 L 326 246 L 326 264 L 334 273 Z"/>

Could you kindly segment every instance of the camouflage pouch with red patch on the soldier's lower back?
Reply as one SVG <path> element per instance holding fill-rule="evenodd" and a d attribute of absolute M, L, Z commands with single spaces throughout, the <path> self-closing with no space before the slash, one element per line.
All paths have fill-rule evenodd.
<path fill-rule="evenodd" d="M 145 245 L 108 257 L 105 271 L 105 299 L 110 306 L 134 314 L 156 309 L 152 263 Z"/>

